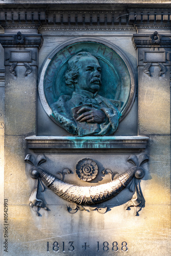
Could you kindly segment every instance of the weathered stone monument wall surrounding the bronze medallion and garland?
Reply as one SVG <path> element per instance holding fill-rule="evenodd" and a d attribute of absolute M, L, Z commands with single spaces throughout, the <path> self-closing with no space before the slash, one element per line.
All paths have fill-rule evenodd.
<path fill-rule="evenodd" d="M 169 1 L 38 2 L 0 1 L 2 255 L 169 255 Z M 118 47 L 134 73 L 134 101 L 110 137 L 71 136 L 47 115 L 40 101 L 38 84 L 48 56 L 51 59 L 61 44 L 81 37 Z M 116 172 L 117 178 L 146 154 L 148 162 L 141 157 L 137 162 L 145 176 L 136 181 L 137 195 L 143 194 L 145 205 L 137 216 L 134 207 L 125 210 L 133 187 L 133 192 L 124 189 L 113 199 L 93 205 L 94 209 L 79 208 L 50 189 L 41 193 L 39 183 L 37 198 L 49 210 L 39 208 L 37 216 L 36 206 L 29 205 L 34 179 L 29 175 L 31 160 L 24 161 L 28 154 L 33 159 L 44 154 L 46 160 L 39 159 L 45 161 L 34 161 L 59 179 L 62 174 L 57 172 L 68 168 L 70 174 L 66 171 L 63 180 L 81 186 L 110 182 L 111 175 L 104 175 L 104 169 Z M 134 161 L 127 161 L 133 155 Z M 84 158 L 93 159 L 99 168 L 89 184 L 75 174 L 76 164 Z M 3 211 L 4 202 L 8 211 Z"/>

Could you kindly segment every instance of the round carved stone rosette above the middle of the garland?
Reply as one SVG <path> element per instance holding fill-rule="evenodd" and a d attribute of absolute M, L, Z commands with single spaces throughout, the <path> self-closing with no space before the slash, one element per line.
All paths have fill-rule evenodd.
<path fill-rule="evenodd" d="M 75 172 L 80 180 L 91 181 L 98 174 L 98 166 L 94 160 L 84 158 L 77 163 Z"/>

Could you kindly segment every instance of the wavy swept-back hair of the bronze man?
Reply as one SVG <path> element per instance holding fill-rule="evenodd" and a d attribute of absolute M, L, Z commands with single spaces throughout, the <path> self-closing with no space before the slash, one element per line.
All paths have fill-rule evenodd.
<path fill-rule="evenodd" d="M 70 88 L 75 88 L 75 83 L 77 82 L 77 77 L 79 75 L 79 68 L 81 63 L 78 61 L 81 57 L 93 56 L 89 52 L 79 52 L 68 61 L 68 69 L 65 73 L 66 84 Z M 93 56 L 94 57 L 94 56 Z"/>

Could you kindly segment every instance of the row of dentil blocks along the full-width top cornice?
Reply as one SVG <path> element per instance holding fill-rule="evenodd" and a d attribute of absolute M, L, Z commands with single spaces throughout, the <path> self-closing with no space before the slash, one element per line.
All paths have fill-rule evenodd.
<path fill-rule="evenodd" d="M 46 24 L 58 26 L 115 26 L 133 24 L 167 24 L 170 9 L 129 9 L 128 11 L 58 11 L 44 8 L 2 9 L 0 24 Z"/>

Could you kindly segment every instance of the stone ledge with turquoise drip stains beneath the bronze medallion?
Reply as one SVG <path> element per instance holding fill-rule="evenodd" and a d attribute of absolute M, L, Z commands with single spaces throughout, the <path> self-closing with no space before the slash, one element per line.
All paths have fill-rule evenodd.
<path fill-rule="evenodd" d="M 148 137 L 57 137 L 30 136 L 26 138 L 30 150 L 35 153 L 140 153 L 147 145 Z"/>

